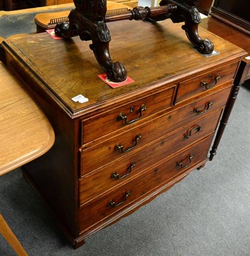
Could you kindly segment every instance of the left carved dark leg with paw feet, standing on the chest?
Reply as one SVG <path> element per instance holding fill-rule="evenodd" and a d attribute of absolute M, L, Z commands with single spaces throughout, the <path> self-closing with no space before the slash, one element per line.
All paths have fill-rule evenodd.
<path fill-rule="evenodd" d="M 126 80 L 126 69 L 119 62 L 113 62 L 109 53 L 110 32 L 104 22 L 107 12 L 105 0 L 75 0 L 75 10 L 69 15 L 69 22 L 60 22 L 55 35 L 65 38 L 79 35 L 81 40 L 92 40 L 90 45 L 96 60 L 113 82 Z"/>

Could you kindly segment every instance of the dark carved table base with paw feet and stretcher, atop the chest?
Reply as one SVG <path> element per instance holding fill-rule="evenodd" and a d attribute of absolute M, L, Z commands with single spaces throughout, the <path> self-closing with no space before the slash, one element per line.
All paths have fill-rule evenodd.
<path fill-rule="evenodd" d="M 106 0 L 74 0 L 75 9 L 70 12 L 68 21 L 59 22 L 55 27 L 55 34 L 65 38 L 80 36 L 81 40 L 92 40 L 89 45 L 96 56 L 96 60 L 113 82 L 126 80 L 127 71 L 118 61 L 113 62 L 109 52 L 111 40 L 106 22 L 117 20 L 146 20 L 157 22 L 172 19 L 173 22 L 185 22 L 182 29 L 187 38 L 202 54 L 211 54 L 214 45 L 209 39 L 202 39 L 198 35 L 200 14 L 196 9 L 195 0 L 162 0 L 159 7 L 135 7 L 123 13 L 107 15 Z M 122 31 L 121 31 L 122 33 Z"/>

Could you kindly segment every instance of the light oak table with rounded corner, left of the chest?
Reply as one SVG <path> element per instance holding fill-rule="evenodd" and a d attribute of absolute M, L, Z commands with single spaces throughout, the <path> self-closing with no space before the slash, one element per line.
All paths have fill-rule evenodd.
<path fill-rule="evenodd" d="M 54 130 L 24 86 L 0 62 L 0 176 L 47 152 Z M 27 255 L 0 214 L 0 234 L 18 255 Z"/>

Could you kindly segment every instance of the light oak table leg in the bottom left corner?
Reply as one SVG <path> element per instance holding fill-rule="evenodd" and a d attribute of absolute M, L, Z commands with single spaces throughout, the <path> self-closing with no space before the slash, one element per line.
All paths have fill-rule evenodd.
<path fill-rule="evenodd" d="M 4 220 L 3 216 L 0 214 L 0 234 L 6 239 L 6 241 L 11 245 L 13 250 L 19 256 L 28 256 L 27 252 L 24 250 L 17 237 L 13 234 L 12 230 Z"/>

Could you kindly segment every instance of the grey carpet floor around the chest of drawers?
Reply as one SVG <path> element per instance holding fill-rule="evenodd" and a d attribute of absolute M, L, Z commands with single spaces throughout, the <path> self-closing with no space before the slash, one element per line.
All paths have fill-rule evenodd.
<path fill-rule="evenodd" d="M 214 161 L 73 249 L 20 170 L 0 177 L 0 211 L 30 256 L 249 256 L 250 86 Z M 15 255 L 0 236 L 0 255 Z"/>

